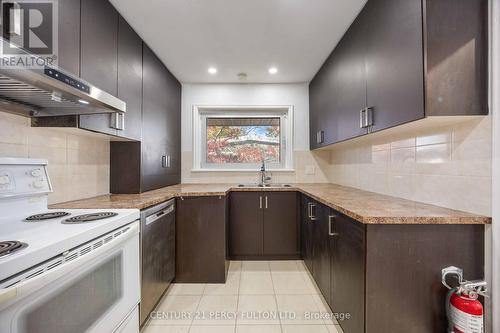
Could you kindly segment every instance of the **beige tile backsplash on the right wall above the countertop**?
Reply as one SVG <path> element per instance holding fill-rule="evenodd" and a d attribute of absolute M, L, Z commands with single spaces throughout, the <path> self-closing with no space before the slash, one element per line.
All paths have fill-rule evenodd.
<path fill-rule="evenodd" d="M 332 183 L 491 215 L 491 142 L 491 117 L 424 123 L 333 146 L 325 171 Z"/>

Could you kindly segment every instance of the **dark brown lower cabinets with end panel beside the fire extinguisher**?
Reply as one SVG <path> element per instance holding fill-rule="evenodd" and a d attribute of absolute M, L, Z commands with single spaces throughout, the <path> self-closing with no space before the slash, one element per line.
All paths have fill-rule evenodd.
<path fill-rule="evenodd" d="M 484 278 L 483 225 L 362 224 L 306 196 L 301 207 L 302 257 L 345 333 L 446 332 L 441 269 Z"/>

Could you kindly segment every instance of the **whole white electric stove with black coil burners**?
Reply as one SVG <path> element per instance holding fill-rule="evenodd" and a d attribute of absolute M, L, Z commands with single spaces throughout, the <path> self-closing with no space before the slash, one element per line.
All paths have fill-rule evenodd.
<path fill-rule="evenodd" d="M 0 158 L 0 332 L 138 332 L 139 210 L 50 192 L 45 160 Z"/>

